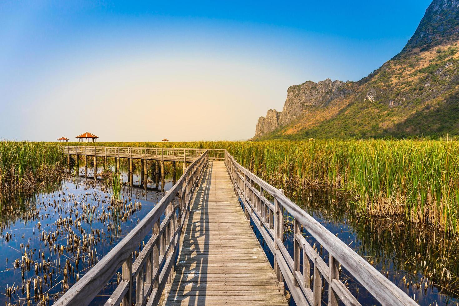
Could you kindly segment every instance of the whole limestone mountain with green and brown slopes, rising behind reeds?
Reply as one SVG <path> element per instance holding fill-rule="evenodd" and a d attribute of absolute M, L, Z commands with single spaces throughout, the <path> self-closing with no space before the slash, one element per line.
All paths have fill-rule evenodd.
<path fill-rule="evenodd" d="M 459 135 L 459 0 L 434 0 L 403 50 L 358 82 L 287 89 L 256 139 Z"/>

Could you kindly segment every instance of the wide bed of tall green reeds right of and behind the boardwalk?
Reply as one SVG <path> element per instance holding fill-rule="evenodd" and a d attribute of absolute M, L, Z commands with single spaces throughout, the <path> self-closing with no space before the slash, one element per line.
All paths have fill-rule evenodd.
<path fill-rule="evenodd" d="M 69 143 L 78 145 L 78 143 Z M 94 145 L 94 144 L 88 144 Z M 102 146 L 227 149 L 265 180 L 333 186 L 370 216 L 404 216 L 459 231 L 459 144 L 445 140 L 196 141 Z"/>

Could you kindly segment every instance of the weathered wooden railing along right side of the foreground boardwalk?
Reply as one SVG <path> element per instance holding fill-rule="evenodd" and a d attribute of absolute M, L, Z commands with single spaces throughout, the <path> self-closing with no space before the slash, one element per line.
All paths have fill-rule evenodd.
<path fill-rule="evenodd" d="M 345 305 L 360 305 L 341 282 L 339 264 L 382 305 L 417 305 L 389 279 L 288 199 L 282 189 L 276 189 L 258 178 L 228 152 L 225 152 L 225 164 L 236 195 L 244 203 L 247 219 L 252 218 L 274 254 L 274 271 L 280 281 L 285 280 L 297 305 L 321 305 L 322 278 L 328 283 L 328 305 L 338 305 L 338 300 Z M 274 204 L 266 198 L 268 195 L 274 198 Z M 294 218 L 293 257 L 285 248 L 283 240 L 285 213 Z M 303 237 L 303 228 L 328 251 L 328 265 Z"/>

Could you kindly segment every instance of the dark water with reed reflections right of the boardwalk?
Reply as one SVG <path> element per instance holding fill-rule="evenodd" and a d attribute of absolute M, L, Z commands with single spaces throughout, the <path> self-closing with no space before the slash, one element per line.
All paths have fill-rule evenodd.
<path fill-rule="evenodd" d="M 394 217 L 360 216 L 348 205 L 350 199 L 333 190 L 286 189 L 285 194 L 420 305 L 458 305 L 457 237 L 434 228 L 419 228 Z M 293 224 L 286 223 L 284 228 L 284 244 L 293 255 Z M 254 229 L 272 265 L 272 253 Z M 328 264 L 328 252 L 308 232 L 304 231 L 303 235 Z M 379 305 L 344 268 L 340 279 L 346 280 L 345 284 L 362 305 Z M 323 305 L 326 305 L 327 287 L 325 283 Z M 293 299 L 290 305 L 295 305 Z"/>

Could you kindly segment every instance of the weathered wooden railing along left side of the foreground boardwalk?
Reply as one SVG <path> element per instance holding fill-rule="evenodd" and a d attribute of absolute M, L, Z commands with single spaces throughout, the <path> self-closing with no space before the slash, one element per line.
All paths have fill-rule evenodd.
<path fill-rule="evenodd" d="M 101 147 L 102 150 L 108 148 Z M 172 279 L 180 234 L 207 166 L 209 151 L 202 151 L 146 217 L 54 305 L 88 305 L 121 267 L 122 280 L 105 305 L 119 305 L 120 302 L 132 305 L 134 299 L 136 306 L 158 304 L 165 284 Z M 161 221 L 162 215 L 165 217 Z M 133 261 L 134 250 L 148 234 L 152 234 L 151 238 Z"/>

